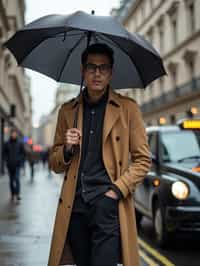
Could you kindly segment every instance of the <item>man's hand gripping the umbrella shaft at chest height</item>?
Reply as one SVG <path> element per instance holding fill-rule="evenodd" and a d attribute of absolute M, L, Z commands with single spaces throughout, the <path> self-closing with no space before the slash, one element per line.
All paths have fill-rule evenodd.
<path fill-rule="evenodd" d="M 71 150 L 72 145 L 78 145 L 81 141 L 81 131 L 77 128 L 70 128 L 65 133 L 64 145 L 66 150 Z"/>

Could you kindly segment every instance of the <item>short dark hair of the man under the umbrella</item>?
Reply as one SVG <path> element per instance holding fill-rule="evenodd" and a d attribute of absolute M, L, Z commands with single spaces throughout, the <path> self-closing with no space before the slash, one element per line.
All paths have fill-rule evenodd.
<path fill-rule="evenodd" d="M 114 64 L 114 57 L 113 57 L 113 49 L 110 48 L 107 44 L 105 43 L 95 43 L 92 44 L 90 46 L 88 46 L 82 53 L 81 56 L 81 63 L 82 65 L 85 65 L 85 63 L 87 62 L 87 58 L 89 54 L 102 54 L 102 55 L 106 55 L 109 60 L 110 60 L 110 64 L 111 67 Z"/>

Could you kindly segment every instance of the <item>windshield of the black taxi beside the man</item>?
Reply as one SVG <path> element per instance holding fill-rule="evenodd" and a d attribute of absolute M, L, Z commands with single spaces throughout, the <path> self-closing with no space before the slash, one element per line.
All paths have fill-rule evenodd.
<path fill-rule="evenodd" d="M 200 133 L 192 130 L 162 133 L 161 156 L 166 162 L 200 160 Z"/>

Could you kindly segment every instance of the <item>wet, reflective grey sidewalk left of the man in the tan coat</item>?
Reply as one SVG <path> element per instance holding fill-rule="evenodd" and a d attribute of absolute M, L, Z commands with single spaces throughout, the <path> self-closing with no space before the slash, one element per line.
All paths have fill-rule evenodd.
<path fill-rule="evenodd" d="M 36 166 L 21 177 L 20 204 L 10 201 L 8 177 L 0 177 L 0 265 L 46 266 L 61 178 Z"/>

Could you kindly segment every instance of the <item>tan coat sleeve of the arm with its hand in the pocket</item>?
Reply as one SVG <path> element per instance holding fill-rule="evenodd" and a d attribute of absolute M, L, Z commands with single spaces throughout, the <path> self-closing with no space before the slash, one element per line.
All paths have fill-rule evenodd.
<path fill-rule="evenodd" d="M 150 150 L 142 114 L 135 102 L 131 102 L 129 108 L 129 151 L 131 163 L 120 178 L 114 182 L 124 198 L 135 191 L 136 185 L 143 181 L 151 166 Z"/>

